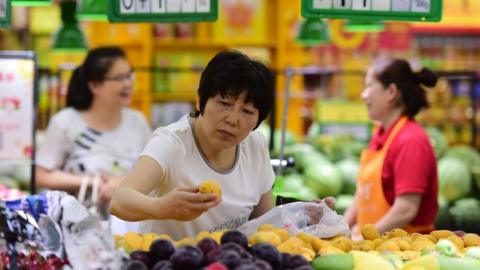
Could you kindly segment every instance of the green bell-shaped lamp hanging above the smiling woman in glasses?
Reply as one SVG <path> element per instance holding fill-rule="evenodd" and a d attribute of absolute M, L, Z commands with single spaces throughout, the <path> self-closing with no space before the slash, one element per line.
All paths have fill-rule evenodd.
<path fill-rule="evenodd" d="M 53 35 L 52 49 L 55 51 L 85 51 L 87 42 L 82 29 L 75 18 L 77 3 L 75 1 L 60 2 L 62 26 Z"/>

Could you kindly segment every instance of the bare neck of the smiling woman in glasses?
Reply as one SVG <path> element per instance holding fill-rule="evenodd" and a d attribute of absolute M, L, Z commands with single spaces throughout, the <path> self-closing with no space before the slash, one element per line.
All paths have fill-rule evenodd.
<path fill-rule="evenodd" d="M 110 131 L 120 125 L 122 108 L 111 108 L 93 102 L 92 106 L 82 115 L 91 128 L 99 131 Z"/>

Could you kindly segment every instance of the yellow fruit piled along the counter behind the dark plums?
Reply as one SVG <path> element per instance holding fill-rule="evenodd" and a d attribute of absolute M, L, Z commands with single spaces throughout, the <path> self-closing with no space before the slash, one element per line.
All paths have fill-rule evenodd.
<path fill-rule="evenodd" d="M 185 237 L 178 241 L 173 240 L 166 234 L 144 234 L 128 232 L 123 237 L 115 236 L 116 245 L 126 252 L 133 250 L 148 251 L 150 244 L 158 238 L 171 240 L 176 247 L 195 245 L 205 237 L 214 239 L 220 244 L 220 239 L 225 230 L 216 232 L 200 232 L 194 238 Z M 480 247 L 480 236 L 467 233 L 462 237 L 452 231 L 437 230 L 430 234 L 409 234 L 402 229 L 393 229 L 380 235 L 372 225 L 362 228 L 363 240 L 353 241 L 345 236 L 336 236 L 329 239 L 320 239 L 316 236 L 300 232 L 295 236 L 283 228 L 277 228 L 271 224 L 263 224 L 257 228 L 257 232 L 249 237 L 249 245 L 265 242 L 275 246 L 280 252 L 301 255 L 309 261 L 316 256 L 331 254 L 344 254 L 348 252 L 367 252 L 372 255 L 393 253 L 405 261 L 420 257 L 422 252 L 435 250 L 435 244 L 441 239 L 448 239 L 457 248 L 458 254 L 465 254 L 472 247 Z"/>

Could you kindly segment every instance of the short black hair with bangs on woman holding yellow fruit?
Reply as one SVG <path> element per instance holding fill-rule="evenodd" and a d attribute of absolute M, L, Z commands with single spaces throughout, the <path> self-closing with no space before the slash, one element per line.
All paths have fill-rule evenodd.
<path fill-rule="evenodd" d="M 262 62 L 253 60 L 236 50 L 226 50 L 215 55 L 200 77 L 198 96 L 203 114 L 207 100 L 220 94 L 222 97 L 239 97 L 246 93 L 245 102 L 252 102 L 259 111 L 255 128 L 272 110 L 275 76 Z"/>

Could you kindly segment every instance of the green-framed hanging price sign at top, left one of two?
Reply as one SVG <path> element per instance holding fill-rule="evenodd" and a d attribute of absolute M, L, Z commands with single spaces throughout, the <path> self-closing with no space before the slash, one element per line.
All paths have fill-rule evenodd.
<path fill-rule="evenodd" d="M 110 22 L 201 22 L 217 19 L 218 0 L 108 0 Z"/>

